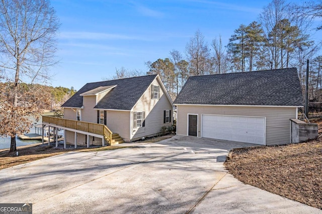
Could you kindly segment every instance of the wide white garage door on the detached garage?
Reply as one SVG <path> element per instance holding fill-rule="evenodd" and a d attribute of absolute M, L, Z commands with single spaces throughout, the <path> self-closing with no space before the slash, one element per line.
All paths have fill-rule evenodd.
<path fill-rule="evenodd" d="M 265 117 L 202 115 L 201 136 L 265 145 Z"/>

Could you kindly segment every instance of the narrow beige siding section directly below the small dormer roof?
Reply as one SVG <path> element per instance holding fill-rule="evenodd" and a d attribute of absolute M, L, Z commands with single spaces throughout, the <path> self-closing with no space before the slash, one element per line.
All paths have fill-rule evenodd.
<path fill-rule="evenodd" d="M 97 123 L 96 95 L 83 97 L 82 121 Z"/>

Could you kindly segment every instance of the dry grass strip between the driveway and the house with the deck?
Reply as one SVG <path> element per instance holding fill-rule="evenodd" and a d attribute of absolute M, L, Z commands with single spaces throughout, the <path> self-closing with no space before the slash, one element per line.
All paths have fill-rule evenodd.
<path fill-rule="evenodd" d="M 160 140 L 164 140 L 167 138 L 172 137 L 173 135 L 165 135 L 160 137 L 154 137 L 148 139 L 144 142 L 157 142 Z M 4 168 L 9 168 L 15 165 L 27 163 L 30 161 L 42 159 L 45 157 L 50 157 L 58 154 L 63 154 L 70 151 L 78 151 L 78 152 L 88 152 L 88 151 L 104 151 L 104 150 L 111 150 L 111 149 L 119 149 L 119 148 L 126 148 L 126 146 L 105 146 L 105 147 L 94 147 L 94 148 L 55 148 L 51 145 L 28 145 L 28 146 L 21 146 L 17 149 L 19 152 L 19 156 L 17 156 L 16 151 L 10 152 L 8 149 L 0 150 L 0 170 Z"/>

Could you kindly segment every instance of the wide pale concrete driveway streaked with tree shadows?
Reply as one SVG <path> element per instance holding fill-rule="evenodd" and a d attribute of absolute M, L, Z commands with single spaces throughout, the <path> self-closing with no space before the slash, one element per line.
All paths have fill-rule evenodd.
<path fill-rule="evenodd" d="M 0 170 L 0 203 L 33 213 L 322 213 L 234 179 L 228 150 L 252 144 L 174 136 L 69 152 Z"/>

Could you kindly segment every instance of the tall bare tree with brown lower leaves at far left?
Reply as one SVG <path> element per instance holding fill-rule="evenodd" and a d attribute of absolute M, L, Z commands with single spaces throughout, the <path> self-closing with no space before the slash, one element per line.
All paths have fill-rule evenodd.
<path fill-rule="evenodd" d="M 1 129 L 0 135 L 11 137 L 10 151 L 16 150 L 16 134 L 25 132 L 26 127 L 32 124 L 26 116 L 39 117 L 41 113 L 36 100 L 46 93 L 28 84 L 45 82 L 47 68 L 56 63 L 55 36 L 58 28 L 58 18 L 48 0 L 0 2 L 0 68 L 1 76 L 9 82 L 2 87 L 2 99 L 6 104 L 1 104 L 1 111 L 7 111 L 11 120 L 8 124 L 12 126 Z M 28 83 L 25 85 L 28 90 L 22 87 L 22 83 Z M 1 123 L 6 125 L 3 120 Z"/>

